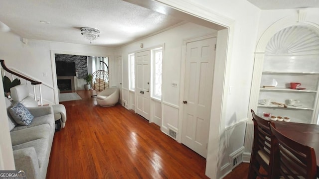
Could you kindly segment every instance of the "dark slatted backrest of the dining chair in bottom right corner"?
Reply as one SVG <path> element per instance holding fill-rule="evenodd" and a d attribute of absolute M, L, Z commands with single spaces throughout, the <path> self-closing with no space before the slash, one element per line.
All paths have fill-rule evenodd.
<path fill-rule="evenodd" d="M 316 179 L 317 162 L 315 150 L 300 144 L 270 126 L 274 159 L 274 178 Z"/>

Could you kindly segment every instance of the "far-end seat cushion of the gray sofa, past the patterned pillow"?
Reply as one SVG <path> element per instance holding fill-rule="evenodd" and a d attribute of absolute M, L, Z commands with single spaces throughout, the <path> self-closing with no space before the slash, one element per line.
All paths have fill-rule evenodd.
<path fill-rule="evenodd" d="M 26 128 L 32 128 L 38 125 L 42 124 L 48 124 L 50 126 L 50 129 L 55 128 L 55 121 L 54 121 L 54 116 L 53 114 L 47 114 L 39 117 L 34 117 L 32 119 L 32 122 L 28 126 L 22 126 L 22 125 L 17 125 L 12 129 L 12 131 L 17 131 L 21 129 L 26 129 Z"/>

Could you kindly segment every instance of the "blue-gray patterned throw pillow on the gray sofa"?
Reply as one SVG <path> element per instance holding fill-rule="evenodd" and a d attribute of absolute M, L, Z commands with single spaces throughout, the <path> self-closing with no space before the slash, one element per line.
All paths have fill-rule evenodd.
<path fill-rule="evenodd" d="M 16 123 L 24 126 L 30 125 L 34 118 L 30 111 L 20 102 L 11 107 L 9 112 Z"/>

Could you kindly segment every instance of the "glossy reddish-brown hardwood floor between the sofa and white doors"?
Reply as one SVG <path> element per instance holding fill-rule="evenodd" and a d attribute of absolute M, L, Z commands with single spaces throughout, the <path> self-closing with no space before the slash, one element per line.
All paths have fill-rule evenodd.
<path fill-rule="evenodd" d="M 47 179 L 207 179 L 206 160 L 121 105 L 100 107 L 92 91 L 61 102 Z"/>

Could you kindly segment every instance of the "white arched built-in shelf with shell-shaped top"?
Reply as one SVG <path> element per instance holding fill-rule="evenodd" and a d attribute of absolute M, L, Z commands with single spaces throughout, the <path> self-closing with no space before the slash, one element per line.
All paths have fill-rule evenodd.
<path fill-rule="evenodd" d="M 262 93 L 275 93 L 278 96 L 283 96 L 282 94 L 284 93 L 297 93 L 299 95 L 310 95 L 310 94 L 316 94 L 318 95 L 318 84 L 316 82 L 316 85 L 312 85 L 312 92 L 306 92 L 306 91 L 291 91 L 291 90 L 283 90 L 283 91 L 272 91 L 272 90 L 264 90 L 262 92 L 262 86 L 261 82 L 264 78 L 264 76 L 291 76 L 293 77 L 299 77 L 299 78 L 313 78 L 316 79 L 319 74 L 319 68 L 316 69 L 316 66 L 313 66 L 313 68 L 293 68 L 293 66 L 287 66 L 285 64 L 290 63 L 290 62 L 299 62 L 298 59 L 305 59 L 303 63 L 300 63 L 298 65 L 295 65 L 295 67 L 303 67 L 305 62 L 309 62 L 313 59 L 317 59 L 317 63 L 319 63 L 319 48 L 318 48 L 318 35 L 319 35 L 319 24 L 314 22 L 311 17 L 309 16 L 308 13 L 310 13 L 309 9 L 307 8 L 302 8 L 298 9 L 296 11 L 297 13 L 294 15 L 286 16 L 284 18 L 279 19 L 278 21 L 274 22 L 271 24 L 267 29 L 262 33 L 261 37 L 258 40 L 256 50 L 255 50 L 255 61 L 254 61 L 254 70 L 253 70 L 253 76 L 252 76 L 252 85 L 251 85 L 251 93 L 250 93 L 250 99 L 249 99 L 249 107 L 248 107 L 248 118 L 251 119 L 251 109 L 257 111 L 258 109 L 264 108 L 265 110 L 271 109 L 273 111 L 279 111 L 279 110 L 285 110 L 287 113 L 294 113 L 296 112 L 298 115 L 294 116 L 291 121 L 293 122 L 303 122 L 303 123 L 317 123 L 317 116 L 318 116 L 318 101 L 315 102 L 313 101 L 312 104 L 309 105 L 304 105 L 306 106 L 305 108 L 307 109 L 300 109 L 300 107 L 296 108 L 286 108 L 282 109 L 282 107 L 266 107 L 262 106 L 259 104 L 259 99 L 263 98 L 261 95 Z M 294 27 L 294 28 L 292 28 Z M 285 31 L 283 29 L 286 29 Z M 287 46 L 291 47 L 290 49 L 286 50 L 286 52 L 289 53 L 274 53 L 275 49 L 278 48 L 279 44 L 286 44 L 284 43 L 285 40 L 288 37 L 287 32 L 290 32 L 291 34 L 294 34 L 295 39 L 290 40 L 290 42 L 301 42 L 300 37 L 305 37 L 304 34 L 300 35 L 297 34 L 298 29 L 300 29 L 302 32 L 306 32 L 306 34 L 310 34 L 310 38 L 308 39 L 313 39 L 315 42 L 312 42 L 311 46 L 313 48 L 310 48 L 309 46 L 306 46 L 304 44 L 305 49 L 303 48 L 292 48 L 292 46 Z M 280 32 L 281 31 L 281 32 Z M 280 35 L 280 33 L 282 35 Z M 292 33 L 294 32 L 294 33 Z M 286 34 L 286 35 L 285 35 Z M 276 39 L 281 39 L 280 42 L 276 42 Z M 288 41 L 287 41 L 288 42 Z M 307 42 L 303 41 L 303 42 Z M 268 46 L 269 45 L 269 46 Z M 297 46 L 296 47 L 302 47 L 302 46 Z M 285 48 L 283 48 L 285 49 Z M 281 50 L 284 52 L 285 50 Z M 277 50 L 279 52 L 279 50 Z M 294 52 L 294 53 L 292 53 Z M 293 56 L 292 56 L 293 55 Z M 295 59 L 292 59 L 294 57 Z M 273 59 L 272 59 L 273 58 Z M 283 65 L 279 65 L 279 67 L 285 67 L 285 68 L 274 68 L 272 65 L 273 63 L 269 63 L 271 60 L 276 61 L 276 59 L 284 59 L 282 61 Z M 268 63 L 267 63 L 268 62 Z M 265 68 L 269 64 L 270 68 Z M 295 63 L 296 64 L 296 63 Z M 318 80 L 318 79 L 317 79 Z M 280 85 L 280 84 L 279 84 Z M 305 83 L 303 83 L 305 85 Z M 279 88 L 278 86 L 276 88 Z M 282 88 L 286 89 L 284 85 L 282 85 Z M 307 90 L 311 88 L 306 88 Z M 314 90 L 313 90 L 314 89 Z M 318 96 L 313 96 L 314 100 L 318 98 Z M 264 97 L 267 97 L 266 95 Z M 284 98 L 283 101 L 284 102 Z M 310 109 L 311 111 L 309 111 Z M 313 110 L 312 110 L 313 109 Z M 271 111 L 271 112 L 273 112 Z M 276 112 L 274 114 L 276 115 Z M 279 112 L 278 112 L 279 114 Z M 311 114 L 311 115 L 310 115 Z M 316 117 L 315 117 L 316 116 Z M 307 121 L 305 120 L 300 120 L 300 118 L 308 119 Z M 250 154 L 251 154 L 251 146 L 253 144 L 253 135 L 254 134 L 254 125 L 252 120 L 247 121 L 247 126 L 246 126 L 246 134 L 245 134 L 245 152 L 243 155 L 243 160 L 244 161 L 250 161 Z"/>

